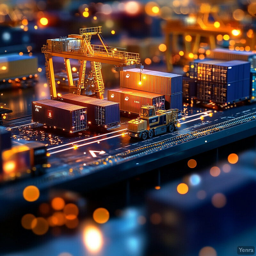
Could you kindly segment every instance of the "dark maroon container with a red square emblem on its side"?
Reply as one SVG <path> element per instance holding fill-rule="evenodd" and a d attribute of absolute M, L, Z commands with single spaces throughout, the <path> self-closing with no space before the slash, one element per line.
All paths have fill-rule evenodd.
<path fill-rule="evenodd" d="M 32 120 L 68 132 L 86 130 L 87 108 L 57 100 L 32 101 Z"/>

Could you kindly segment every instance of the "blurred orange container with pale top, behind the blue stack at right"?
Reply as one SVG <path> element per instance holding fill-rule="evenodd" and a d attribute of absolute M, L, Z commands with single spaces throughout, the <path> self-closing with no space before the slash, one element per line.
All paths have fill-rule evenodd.
<path fill-rule="evenodd" d="M 217 48 L 211 51 L 210 57 L 217 60 L 243 60 L 251 63 L 251 68 L 256 68 L 256 53 L 246 51 L 235 51 Z"/>

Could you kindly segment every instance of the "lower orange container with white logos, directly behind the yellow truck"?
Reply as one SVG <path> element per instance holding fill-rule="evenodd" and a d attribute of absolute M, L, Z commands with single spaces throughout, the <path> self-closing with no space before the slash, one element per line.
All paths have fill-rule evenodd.
<path fill-rule="evenodd" d="M 108 90 L 108 100 L 119 102 L 120 110 L 134 114 L 140 114 L 140 107 L 149 104 L 156 110 L 164 110 L 164 95 L 142 92 L 128 88 Z"/>

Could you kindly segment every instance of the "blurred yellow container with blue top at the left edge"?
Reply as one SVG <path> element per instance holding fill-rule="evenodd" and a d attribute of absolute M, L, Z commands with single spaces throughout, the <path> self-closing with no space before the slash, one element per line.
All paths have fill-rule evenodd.
<path fill-rule="evenodd" d="M 3 68 L 4 67 L 4 68 Z M 0 62 L 0 80 L 28 77 L 37 73 L 37 57 L 29 58 L 2 58 Z"/>

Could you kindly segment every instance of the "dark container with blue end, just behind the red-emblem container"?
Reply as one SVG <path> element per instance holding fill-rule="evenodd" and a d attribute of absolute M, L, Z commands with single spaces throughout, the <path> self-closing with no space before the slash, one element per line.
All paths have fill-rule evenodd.
<path fill-rule="evenodd" d="M 99 125 L 107 130 L 120 127 L 119 103 L 68 93 L 57 100 L 87 108 L 88 124 Z"/>

